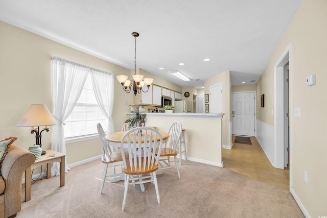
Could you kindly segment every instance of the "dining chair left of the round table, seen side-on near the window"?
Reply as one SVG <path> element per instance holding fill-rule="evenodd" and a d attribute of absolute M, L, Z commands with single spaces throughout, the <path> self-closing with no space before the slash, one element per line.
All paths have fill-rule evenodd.
<path fill-rule="evenodd" d="M 111 152 L 109 143 L 106 140 L 106 135 L 105 135 L 100 123 L 97 124 L 97 128 L 98 128 L 98 133 L 99 133 L 99 137 L 100 137 L 100 141 L 101 141 L 101 148 L 102 148 L 101 149 L 102 150 L 101 160 L 105 164 L 104 170 L 103 170 L 103 175 L 102 175 L 102 184 L 101 184 L 101 188 L 100 188 L 100 193 L 102 193 L 104 182 L 107 177 L 119 177 L 119 176 L 124 175 L 122 162 L 119 164 L 112 164 L 115 162 L 123 161 L 123 158 L 122 158 L 121 151 Z M 109 167 L 112 168 L 112 171 L 110 171 L 112 173 L 107 175 Z M 119 168 L 118 173 L 116 173 L 116 167 Z"/>

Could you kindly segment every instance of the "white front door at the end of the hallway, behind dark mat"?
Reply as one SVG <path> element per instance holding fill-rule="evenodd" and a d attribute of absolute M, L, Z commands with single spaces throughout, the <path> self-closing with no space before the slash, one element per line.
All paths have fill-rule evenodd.
<path fill-rule="evenodd" d="M 232 134 L 255 135 L 255 92 L 232 93 Z"/>

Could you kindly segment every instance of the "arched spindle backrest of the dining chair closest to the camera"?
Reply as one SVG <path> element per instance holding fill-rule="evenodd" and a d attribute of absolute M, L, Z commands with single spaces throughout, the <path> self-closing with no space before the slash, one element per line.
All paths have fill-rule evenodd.
<path fill-rule="evenodd" d="M 122 152 L 124 168 L 128 168 L 128 159 L 132 172 L 151 170 L 159 161 L 160 153 L 155 152 L 157 147 L 161 152 L 162 136 L 157 130 L 136 127 L 127 131 L 121 140 L 121 151 L 128 150 L 128 157 Z"/>

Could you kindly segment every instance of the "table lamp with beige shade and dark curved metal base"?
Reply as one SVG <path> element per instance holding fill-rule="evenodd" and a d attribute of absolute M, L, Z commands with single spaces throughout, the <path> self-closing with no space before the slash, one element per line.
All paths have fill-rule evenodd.
<path fill-rule="evenodd" d="M 36 144 L 42 147 L 41 134 L 45 130 L 49 132 L 48 126 L 57 125 L 57 122 L 53 115 L 50 113 L 46 105 L 32 104 L 26 111 L 24 116 L 16 124 L 16 127 L 32 127 L 31 134 L 35 133 Z M 40 126 L 44 126 L 40 132 Z M 44 155 L 45 151 L 42 151 L 41 155 Z"/>

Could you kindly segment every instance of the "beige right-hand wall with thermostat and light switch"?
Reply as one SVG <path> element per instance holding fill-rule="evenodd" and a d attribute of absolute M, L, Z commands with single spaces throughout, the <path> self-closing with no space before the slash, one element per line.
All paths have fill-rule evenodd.
<path fill-rule="evenodd" d="M 290 44 L 290 188 L 311 217 L 327 214 L 327 1 L 303 0 L 279 42 L 261 79 L 257 93 L 265 94 L 265 108 L 258 119 L 274 125 L 274 65 Z M 306 78 L 316 75 L 316 85 L 306 86 Z M 258 105 L 260 107 L 260 104 Z M 294 108 L 300 117 L 294 117 Z M 308 172 L 309 183 L 303 179 Z"/>

